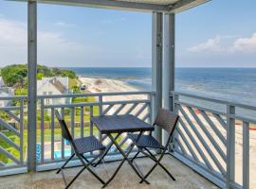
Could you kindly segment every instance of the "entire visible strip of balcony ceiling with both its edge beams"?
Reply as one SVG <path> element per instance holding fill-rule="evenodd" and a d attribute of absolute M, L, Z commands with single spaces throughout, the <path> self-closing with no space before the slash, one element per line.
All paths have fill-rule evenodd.
<path fill-rule="evenodd" d="M 9 0 L 28 1 L 28 0 Z M 46 4 L 83 6 L 102 9 L 127 9 L 135 11 L 164 11 L 177 13 L 191 9 L 210 0 L 32 0 Z"/>

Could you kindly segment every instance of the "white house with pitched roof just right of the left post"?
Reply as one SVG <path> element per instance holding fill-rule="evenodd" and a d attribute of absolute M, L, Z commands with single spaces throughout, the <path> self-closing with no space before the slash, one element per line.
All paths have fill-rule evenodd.
<path fill-rule="evenodd" d="M 37 94 L 69 94 L 68 77 L 43 77 L 37 80 Z M 46 98 L 45 104 L 70 103 L 71 98 Z"/>

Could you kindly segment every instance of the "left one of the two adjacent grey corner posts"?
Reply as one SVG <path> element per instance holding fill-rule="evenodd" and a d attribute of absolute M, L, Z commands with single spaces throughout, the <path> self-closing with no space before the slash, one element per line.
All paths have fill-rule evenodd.
<path fill-rule="evenodd" d="M 163 13 L 153 12 L 152 15 L 152 90 L 155 92 L 152 100 L 152 120 L 162 107 L 162 30 Z M 162 140 L 161 129 L 155 129 L 155 138 Z"/>

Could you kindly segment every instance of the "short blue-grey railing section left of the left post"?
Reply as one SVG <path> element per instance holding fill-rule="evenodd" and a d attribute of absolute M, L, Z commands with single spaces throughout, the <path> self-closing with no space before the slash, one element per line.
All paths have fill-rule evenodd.
<path fill-rule="evenodd" d="M 9 174 L 9 169 L 17 172 L 27 170 L 25 163 L 26 146 L 24 145 L 24 113 L 26 96 L 0 97 L 7 106 L 0 107 L 0 176 Z M 10 172 L 11 174 L 11 172 Z"/>

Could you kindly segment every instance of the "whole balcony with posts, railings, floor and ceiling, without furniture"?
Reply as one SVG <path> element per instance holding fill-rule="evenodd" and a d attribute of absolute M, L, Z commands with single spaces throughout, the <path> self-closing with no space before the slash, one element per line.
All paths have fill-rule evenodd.
<path fill-rule="evenodd" d="M 60 188 L 63 180 L 54 169 L 70 156 L 72 151 L 61 137 L 54 111 L 59 110 L 73 137 L 94 135 L 103 144 L 109 140 L 92 124 L 91 117 L 105 114 L 134 114 L 152 123 L 159 108 L 164 107 L 180 115 L 164 164 L 177 181 L 156 169 L 149 188 L 255 188 L 256 180 L 249 180 L 256 170 L 255 114 L 256 107 L 212 99 L 209 96 L 184 94 L 174 89 L 174 30 L 175 14 L 191 9 L 208 0 L 44 0 L 27 2 L 27 65 L 28 96 L 0 97 L 11 106 L 0 107 L 0 187 L 2 188 Z M 37 95 L 37 4 L 61 4 L 103 9 L 125 9 L 152 13 L 152 92 L 125 92 L 109 94 Z M 116 96 L 133 96 L 118 100 Z M 112 96 L 109 98 L 109 96 Z M 86 100 L 88 97 L 93 101 Z M 57 98 L 71 98 L 62 103 Z M 76 102 L 82 98 L 82 102 Z M 57 104 L 50 102 L 59 101 Z M 165 141 L 165 133 L 155 129 L 155 138 Z M 127 150 L 131 141 L 122 134 L 119 144 Z M 93 158 L 94 153 L 86 154 Z M 252 159 L 252 161 L 250 161 Z M 120 156 L 116 148 L 106 157 L 106 170 L 113 171 Z M 150 161 L 141 157 L 137 164 L 143 170 Z M 72 161 L 70 167 L 78 166 Z M 70 168 L 69 176 L 77 168 Z M 97 170 L 106 178 L 105 167 Z M 30 174 L 22 174 L 27 173 Z M 121 169 L 114 188 L 145 188 L 138 184 L 126 165 Z M 20 175 L 17 175 L 20 174 Z M 253 177 L 251 177 L 253 178 Z M 76 187 L 100 188 L 101 185 L 84 173 Z"/>

